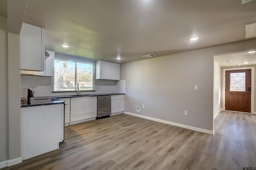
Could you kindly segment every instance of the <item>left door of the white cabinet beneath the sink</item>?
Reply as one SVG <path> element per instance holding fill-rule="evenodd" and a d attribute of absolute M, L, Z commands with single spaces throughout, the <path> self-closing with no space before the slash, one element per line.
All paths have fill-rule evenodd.
<path fill-rule="evenodd" d="M 85 113 L 85 97 L 71 98 L 70 116 L 82 115 Z"/>

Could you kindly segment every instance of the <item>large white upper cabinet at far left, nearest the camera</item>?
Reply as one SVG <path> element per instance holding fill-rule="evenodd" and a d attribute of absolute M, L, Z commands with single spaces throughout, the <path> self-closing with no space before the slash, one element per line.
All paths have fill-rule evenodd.
<path fill-rule="evenodd" d="M 22 23 L 20 30 L 20 69 L 44 71 L 44 29 Z"/>

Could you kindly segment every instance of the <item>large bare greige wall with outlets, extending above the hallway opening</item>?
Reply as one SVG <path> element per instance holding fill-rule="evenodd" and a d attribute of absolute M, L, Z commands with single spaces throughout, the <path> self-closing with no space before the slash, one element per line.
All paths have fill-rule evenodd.
<path fill-rule="evenodd" d="M 121 64 L 125 111 L 213 132 L 214 55 L 254 49 L 255 44 L 244 41 Z"/>

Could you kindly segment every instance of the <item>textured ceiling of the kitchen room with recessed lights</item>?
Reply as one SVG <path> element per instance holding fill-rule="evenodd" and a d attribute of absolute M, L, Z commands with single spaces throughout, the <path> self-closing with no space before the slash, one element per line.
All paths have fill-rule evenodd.
<path fill-rule="evenodd" d="M 24 16 L 44 28 L 46 49 L 115 63 L 246 41 L 255 21 L 256 0 L 29 0 Z"/>

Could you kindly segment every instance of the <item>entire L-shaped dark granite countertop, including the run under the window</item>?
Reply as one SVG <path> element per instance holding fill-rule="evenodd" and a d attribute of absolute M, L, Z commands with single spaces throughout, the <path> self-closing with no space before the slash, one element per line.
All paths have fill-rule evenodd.
<path fill-rule="evenodd" d="M 77 97 L 88 97 L 88 96 L 105 96 L 105 95 L 117 95 L 124 93 L 102 93 L 102 94 L 81 94 L 81 95 L 66 95 L 66 96 L 39 96 L 31 98 L 31 104 L 24 104 L 21 102 L 20 107 L 30 107 L 30 106 L 44 106 L 44 105 L 52 105 L 52 104 L 65 104 L 61 98 L 77 98 Z M 60 100 L 59 100 L 60 99 Z M 23 98 L 21 98 L 23 101 Z"/>

